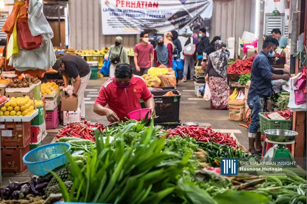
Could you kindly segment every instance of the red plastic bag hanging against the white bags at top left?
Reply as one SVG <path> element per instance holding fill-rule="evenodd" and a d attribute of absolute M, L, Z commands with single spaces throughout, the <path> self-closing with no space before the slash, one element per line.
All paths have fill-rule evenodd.
<path fill-rule="evenodd" d="M 22 21 L 20 18 L 17 20 L 17 35 L 20 47 L 25 50 L 37 49 L 43 43 L 43 37 L 41 35 L 33 36 L 28 22 Z"/>

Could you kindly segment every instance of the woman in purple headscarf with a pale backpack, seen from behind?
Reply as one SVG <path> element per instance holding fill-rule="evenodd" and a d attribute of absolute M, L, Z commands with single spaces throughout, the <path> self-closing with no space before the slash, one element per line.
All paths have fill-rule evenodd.
<path fill-rule="evenodd" d="M 190 67 L 190 77 L 191 77 L 191 81 L 193 81 L 193 76 L 194 76 L 194 66 L 195 66 L 195 59 L 196 59 L 196 50 L 198 47 L 198 35 L 196 33 L 193 33 L 191 35 L 191 38 L 193 39 L 193 44 L 196 45 L 196 49 L 195 52 L 193 54 L 193 56 L 185 56 L 185 65 L 183 67 L 183 78 L 181 80 L 181 82 L 185 82 L 187 81 L 187 74 L 188 74 L 188 69 Z M 185 42 L 185 46 L 187 46 L 189 43 L 191 43 L 191 38 L 188 38 L 188 40 Z"/>

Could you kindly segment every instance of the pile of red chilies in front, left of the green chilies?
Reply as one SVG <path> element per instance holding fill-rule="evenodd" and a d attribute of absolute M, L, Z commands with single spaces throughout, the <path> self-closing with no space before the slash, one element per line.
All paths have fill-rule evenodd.
<path fill-rule="evenodd" d="M 99 131 L 104 130 L 103 124 L 100 123 L 89 123 L 87 120 L 80 121 L 80 122 L 74 122 L 69 123 L 69 125 L 62 127 L 58 134 L 54 135 L 57 138 L 61 137 L 75 137 L 75 138 L 82 138 L 91 140 L 92 142 L 95 142 L 94 138 L 94 130 L 92 128 L 97 128 Z"/>

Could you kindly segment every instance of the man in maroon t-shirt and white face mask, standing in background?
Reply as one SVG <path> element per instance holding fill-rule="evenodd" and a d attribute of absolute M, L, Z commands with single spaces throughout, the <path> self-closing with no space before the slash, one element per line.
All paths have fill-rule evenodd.
<path fill-rule="evenodd" d="M 143 31 L 140 36 L 142 42 L 134 46 L 134 64 L 136 71 L 142 76 L 153 66 L 153 46 L 148 43 L 148 32 Z"/>

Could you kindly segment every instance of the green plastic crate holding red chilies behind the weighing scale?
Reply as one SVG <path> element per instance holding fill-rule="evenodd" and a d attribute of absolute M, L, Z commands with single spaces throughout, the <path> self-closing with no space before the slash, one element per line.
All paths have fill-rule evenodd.
<path fill-rule="evenodd" d="M 263 113 L 259 113 L 260 131 L 262 134 L 264 134 L 265 130 L 271 130 L 271 129 L 290 130 L 291 129 L 292 120 L 272 120 L 262 115 Z"/>

